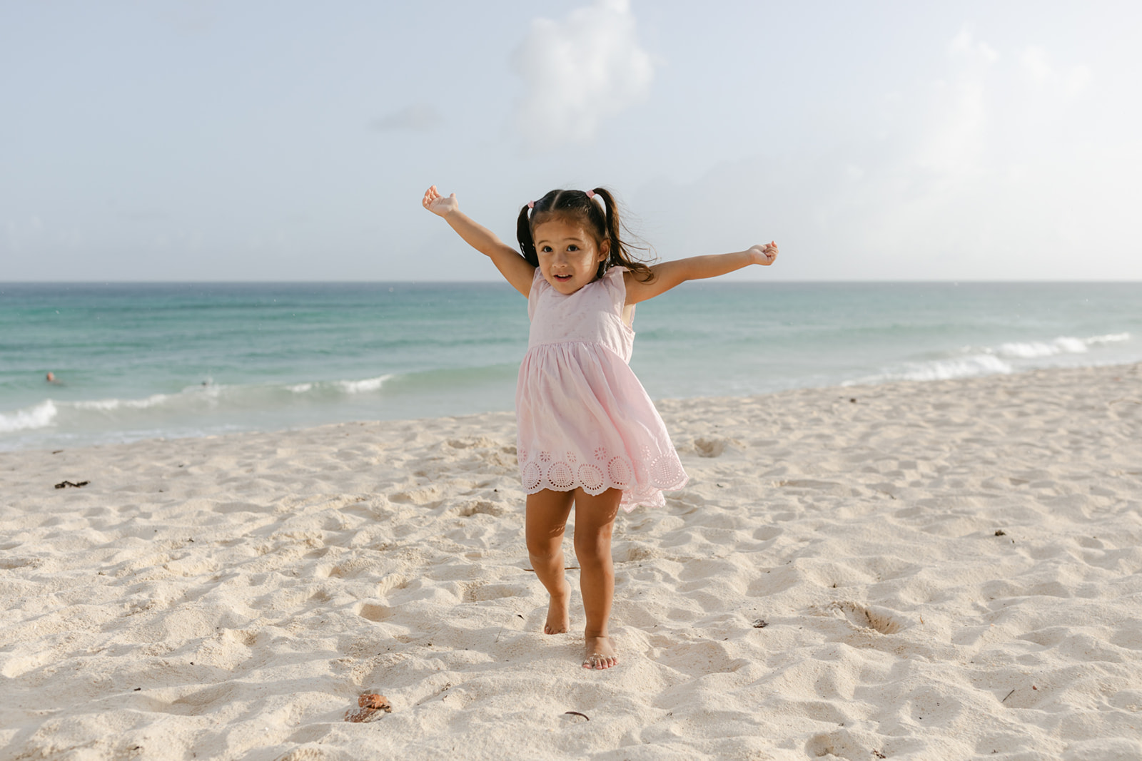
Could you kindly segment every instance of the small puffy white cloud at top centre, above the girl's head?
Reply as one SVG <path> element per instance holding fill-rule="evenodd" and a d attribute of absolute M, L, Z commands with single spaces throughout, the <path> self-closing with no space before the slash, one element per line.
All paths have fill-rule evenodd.
<path fill-rule="evenodd" d="M 589 140 L 605 119 L 643 100 L 653 79 L 628 0 L 534 19 L 513 66 L 526 88 L 518 127 L 533 149 Z"/>

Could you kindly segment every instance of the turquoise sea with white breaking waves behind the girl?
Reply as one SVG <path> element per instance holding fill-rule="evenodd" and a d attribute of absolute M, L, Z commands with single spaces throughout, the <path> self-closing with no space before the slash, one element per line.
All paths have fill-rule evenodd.
<path fill-rule="evenodd" d="M 962 378 L 1142 361 L 1142 284 L 698 282 L 635 330 L 654 398 Z M 510 410 L 526 341 L 498 283 L 0 284 L 0 450 Z"/>

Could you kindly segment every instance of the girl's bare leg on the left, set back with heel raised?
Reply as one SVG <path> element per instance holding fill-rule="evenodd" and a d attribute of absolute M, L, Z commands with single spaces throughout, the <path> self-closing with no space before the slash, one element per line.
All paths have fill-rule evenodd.
<path fill-rule="evenodd" d="M 545 634 L 562 634 L 571 626 L 571 586 L 563 573 L 563 531 L 571 513 L 573 492 L 545 488 L 528 495 L 525 533 L 531 567 L 550 594 Z M 578 532 L 577 532 L 578 533 Z"/>

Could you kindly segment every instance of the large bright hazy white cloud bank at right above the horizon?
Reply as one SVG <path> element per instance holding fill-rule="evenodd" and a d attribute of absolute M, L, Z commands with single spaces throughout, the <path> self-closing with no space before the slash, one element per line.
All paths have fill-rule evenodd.
<path fill-rule="evenodd" d="M 1089 70 L 1040 51 L 1038 82 L 1019 50 L 966 32 L 947 52 L 938 76 L 879 103 L 883 122 L 838 120 L 811 149 L 637 188 L 648 237 L 667 259 L 777 238 L 780 269 L 741 275 L 755 278 L 1142 276 L 1124 244 L 1142 143 L 1092 132 L 1089 98 L 1071 97 Z"/>

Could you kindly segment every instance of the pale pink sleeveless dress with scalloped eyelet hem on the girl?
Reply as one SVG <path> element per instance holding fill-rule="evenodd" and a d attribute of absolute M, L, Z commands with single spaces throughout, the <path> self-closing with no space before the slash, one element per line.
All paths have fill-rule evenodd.
<path fill-rule="evenodd" d="M 520 365 L 516 451 L 528 494 L 622 489 L 622 509 L 665 505 L 686 485 L 666 424 L 627 363 L 635 332 L 622 322 L 624 267 L 571 296 L 539 269 L 528 296 L 531 332 Z"/>

